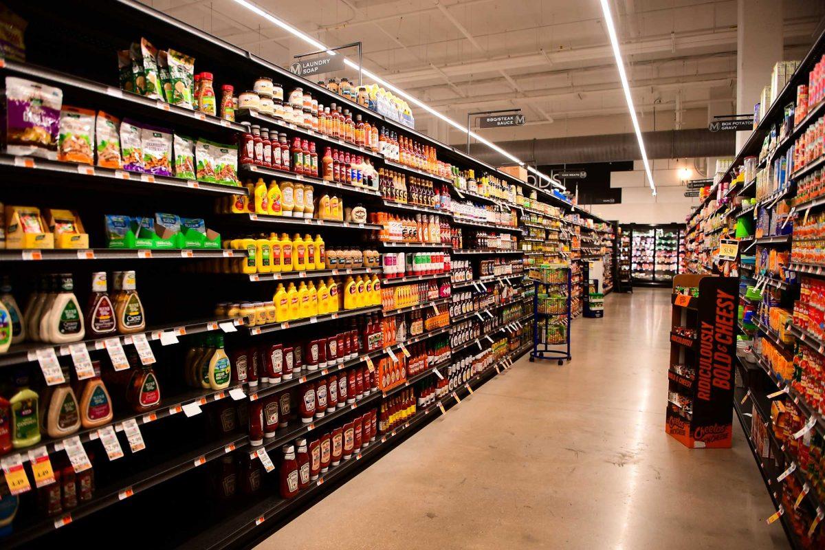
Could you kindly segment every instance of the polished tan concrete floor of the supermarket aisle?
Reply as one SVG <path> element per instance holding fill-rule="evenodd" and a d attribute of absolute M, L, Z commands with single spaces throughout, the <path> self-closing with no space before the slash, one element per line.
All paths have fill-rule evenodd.
<path fill-rule="evenodd" d="M 664 433 L 669 294 L 611 294 L 573 362 L 526 358 L 258 548 L 788 548 L 738 421 Z"/>

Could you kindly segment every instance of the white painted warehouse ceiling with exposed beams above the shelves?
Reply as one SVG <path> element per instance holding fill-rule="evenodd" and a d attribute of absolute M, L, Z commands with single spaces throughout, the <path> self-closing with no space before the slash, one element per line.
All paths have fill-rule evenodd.
<path fill-rule="evenodd" d="M 312 47 L 233 0 L 144 0 L 286 66 Z M 785 54 L 813 41 L 825 2 L 784 0 Z M 361 41 L 364 65 L 453 120 L 520 107 L 495 141 L 632 131 L 598 0 L 257 0 L 328 46 Z M 610 0 L 643 129 L 698 128 L 736 96 L 737 0 Z M 353 59 L 355 52 L 353 52 Z M 350 73 L 336 76 L 357 77 Z M 733 110 L 731 111 L 733 112 Z M 463 139 L 420 109 L 417 128 Z"/>

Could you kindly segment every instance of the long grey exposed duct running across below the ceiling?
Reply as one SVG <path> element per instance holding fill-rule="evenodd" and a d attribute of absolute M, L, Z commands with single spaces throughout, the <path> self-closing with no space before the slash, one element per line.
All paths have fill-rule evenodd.
<path fill-rule="evenodd" d="M 724 157 L 736 153 L 734 132 L 710 132 L 703 128 L 643 132 L 642 136 L 649 158 Z M 497 144 L 516 157 L 539 166 L 641 159 L 636 134 L 525 139 L 497 142 Z M 455 147 L 464 148 L 465 146 L 455 145 Z M 507 159 L 480 143 L 470 145 L 470 154 L 488 164 L 507 163 Z"/>

